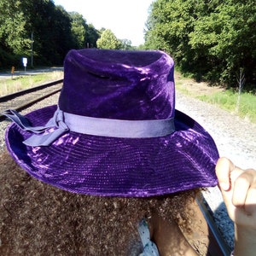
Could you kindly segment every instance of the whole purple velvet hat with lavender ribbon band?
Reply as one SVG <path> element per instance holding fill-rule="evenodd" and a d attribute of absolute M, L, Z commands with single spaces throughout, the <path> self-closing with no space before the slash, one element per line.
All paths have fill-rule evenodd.
<path fill-rule="evenodd" d="M 71 50 L 58 106 L 21 116 L 6 131 L 16 162 L 74 193 L 165 195 L 215 186 L 218 150 L 175 110 L 174 63 L 161 51 Z"/>

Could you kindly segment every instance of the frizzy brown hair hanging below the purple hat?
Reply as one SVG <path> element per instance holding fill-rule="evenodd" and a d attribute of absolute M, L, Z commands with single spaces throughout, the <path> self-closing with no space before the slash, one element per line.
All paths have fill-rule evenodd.
<path fill-rule="evenodd" d="M 137 224 L 157 213 L 183 226 L 195 191 L 151 198 L 78 195 L 0 156 L 0 255 L 131 255 Z"/>

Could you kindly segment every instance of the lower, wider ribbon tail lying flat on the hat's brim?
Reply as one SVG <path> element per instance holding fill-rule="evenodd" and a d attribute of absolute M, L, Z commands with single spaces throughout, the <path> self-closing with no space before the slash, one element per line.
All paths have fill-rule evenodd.
<path fill-rule="evenodd" d="M 59 137 L 61 137 L 64 133 L 66 133 L 68 130 L 63 128 L 58 128 L 55 131 L 52 131 L 48 134 L 44 135 L 32 135 L 32 137 L 29 137 L 24 141 L 23 143 L 26 144 L 26 146 L 31 147 L 39 147 L 39 146 L 49 146 L 51 143 L 55 142 L 55 140 Z"/>

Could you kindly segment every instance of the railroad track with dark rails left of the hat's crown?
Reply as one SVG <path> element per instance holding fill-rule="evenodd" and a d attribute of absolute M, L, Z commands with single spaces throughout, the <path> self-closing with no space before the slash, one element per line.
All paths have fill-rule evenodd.
<path fill-rule="evenodd" d="M 15 109 L 20 111 L 29 106 L 44 100 L 45 98 L 61 90 L 63 79 L 55 80 L 48 84 L 42 84 L 30 89 L 20 90 L 18 92 L 0 97 L 0 121 L 5 119 L 3 113 L 6 109 Z"/>

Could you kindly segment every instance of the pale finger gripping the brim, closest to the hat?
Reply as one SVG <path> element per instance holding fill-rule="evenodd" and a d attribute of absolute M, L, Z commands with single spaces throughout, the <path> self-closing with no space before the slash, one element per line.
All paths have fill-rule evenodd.
<path fill-rule="evenodd" d="M 220 158 L 216 165 L 216 175 L 221 189 L 230 189 L 230 172 L 235 169 L 234 164 L 227 158 Z"/>

